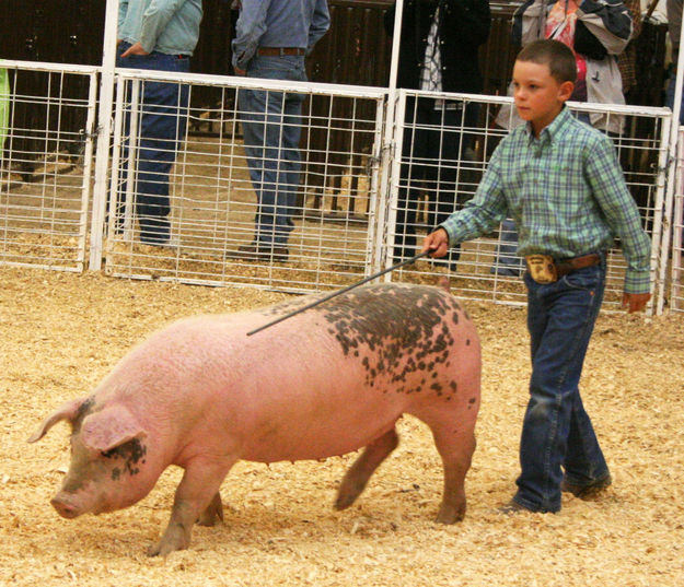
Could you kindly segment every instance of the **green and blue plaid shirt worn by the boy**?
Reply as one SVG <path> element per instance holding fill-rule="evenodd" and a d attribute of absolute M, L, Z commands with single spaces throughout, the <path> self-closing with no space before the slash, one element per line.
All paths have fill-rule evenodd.
<path fill-rule="evenodd" d="M 497 146 L 475 197 L 442 224 L 451 245 L 515 222 L 520 255 L 567 259 L 619 236 L 625 292 L 649 292 L 651 245 L 611 140 L 564 107 L 535 138 L 529 125 Z"/>

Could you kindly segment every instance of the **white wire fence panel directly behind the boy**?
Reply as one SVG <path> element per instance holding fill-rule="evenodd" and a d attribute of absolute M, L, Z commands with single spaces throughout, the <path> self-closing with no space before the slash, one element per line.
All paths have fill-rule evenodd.
<path fill-rule="evenodd" d="M 425 235 L 473 198 L 496 145 L 518 124 L 510 98 L 401 91 L 395 120 L 395 165 L 390 181 L 386 265 L 415 255 Z M 646 231 L 652 238 L 651 274 L 657 287 L 658 246 L 662 231 L 664 168 L 670 111 L 571 104 L 577 116 L 600 115 L 613 139 Z M 608 253 L 604 307 L 622 303 L 626 269 L 619 243 Z M 387 279 L 449 278 L 464 298 L 526 303 L 511 221 L 498 231 L 453 247 L 448 257 L 421 260 Z"/>

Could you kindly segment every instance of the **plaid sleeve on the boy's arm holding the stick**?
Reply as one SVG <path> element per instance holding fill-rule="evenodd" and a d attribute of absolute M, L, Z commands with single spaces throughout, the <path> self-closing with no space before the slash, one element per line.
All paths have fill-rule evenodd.
<path fill-rule="evenodd" d="M 441 224 L 449 235 L 450 246 L 490 233 L 507 216 L 508 204 L 501 183 L 500 153 L 501 144 L 491 155 L 475 197 L 465 204 L 465 208 L 451 214 Z"/>

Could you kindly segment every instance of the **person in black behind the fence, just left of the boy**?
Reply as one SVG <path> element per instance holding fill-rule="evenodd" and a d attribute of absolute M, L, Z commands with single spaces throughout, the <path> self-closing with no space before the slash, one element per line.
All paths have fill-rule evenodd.
<path fill-rule="evenodd" d="M 385 13 L 394 33 L 395 5 Z M 402 19 L 397 86 L 429 92 L 478 94 L 483 90 L 479 46 L 487 42 L 488 0 L 407 0 Z M 409 97 L 406 103 L 394 261 L 416 254 L 419 199 L 428 193 L 430 230 L 464 199 L 456 200 L 463 160 L 473 144 L 479 105 L 475 102 Z M 467 129 L 462 132 L 461 129 Z M 461 178 L 463 180 L 463 178 Z M 452 251 L 455 270 L 459 251 Z"/>

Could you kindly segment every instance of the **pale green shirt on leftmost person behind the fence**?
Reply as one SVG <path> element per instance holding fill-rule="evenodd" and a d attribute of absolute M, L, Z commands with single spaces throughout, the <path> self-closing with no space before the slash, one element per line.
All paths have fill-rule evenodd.
<path fill-rule="evenodd" d="M 119 0 L 117 38 L 147 52 L 193 55 L 200 22 L 201 0 Z"/>

